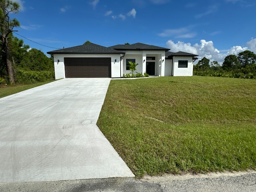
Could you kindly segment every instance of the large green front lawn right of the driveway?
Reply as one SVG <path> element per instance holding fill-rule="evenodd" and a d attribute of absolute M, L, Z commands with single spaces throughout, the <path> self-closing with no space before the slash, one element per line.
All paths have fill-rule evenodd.
<path fill-rule="evenodd" d="M 256 80 L 111 80 L 97 124 L 137 177 L 256 168 Z"/>

